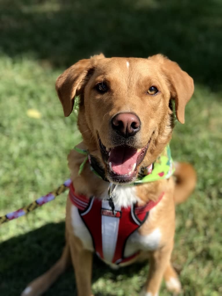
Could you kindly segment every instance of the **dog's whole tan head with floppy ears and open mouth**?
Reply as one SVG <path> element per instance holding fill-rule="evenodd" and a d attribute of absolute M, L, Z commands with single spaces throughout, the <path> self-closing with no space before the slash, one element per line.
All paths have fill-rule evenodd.
<path fill-rule="evenodd" d="M 107 178 L 130 183 L 171 139 L 176 117 L 184 123 L 193 79 L 160 54 L 141 58 L 83 59 L 57 78 L 65 116 L 80 97 L 78 126 L 89 153 Z"/>

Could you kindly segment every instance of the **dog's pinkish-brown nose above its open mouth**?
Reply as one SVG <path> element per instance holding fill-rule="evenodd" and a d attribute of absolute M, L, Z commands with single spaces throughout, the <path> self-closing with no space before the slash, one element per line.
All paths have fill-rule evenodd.
<path fill-rule="evenodd" d="M 112 128 L 124 137 L 134 136 L 140 125 L 139 117 L 133 113 L 118 113 L 112 118 Z"/>

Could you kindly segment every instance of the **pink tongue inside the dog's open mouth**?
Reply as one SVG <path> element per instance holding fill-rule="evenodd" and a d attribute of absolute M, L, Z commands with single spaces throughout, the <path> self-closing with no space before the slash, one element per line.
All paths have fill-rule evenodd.
<path fill-rule="evenodd" d="M 134 163 L 136 163 L 138 155 L 137 149 L 129 147 L 112 148 L 108 164 L 111 162 L 112 170 L 117 175 L 126 175 L 131 171 Z"/>

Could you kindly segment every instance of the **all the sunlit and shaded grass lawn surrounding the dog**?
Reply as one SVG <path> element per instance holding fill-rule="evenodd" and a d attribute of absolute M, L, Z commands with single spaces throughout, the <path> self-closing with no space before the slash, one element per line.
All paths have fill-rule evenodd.
<path fill-rule="evenodd" d="M 124 0 L 0 1 L 0 215 L 26 205 L 69 177 L 66 156 L 81 139 L 63 117 L 57 76 L 80 58 L 161 52 L 195 81 L 185 125 L 171 142 L 176 160 L 197 170 L 192 197 L 176 209 L 173 262 L 185 296 L 219 296 L 221 285 L 222 3 Z M 31 118 L 28 110 L 39 112 Z M 0 294 L 19 295 L 59 258 L 66 194 L 0 229 Z M 112 271 L 95 258 L 96 296 L 136 296 L 149 266 Z M 73 271 L 46 295 L 76 295 Z M 161 295 L 169 296 L 163 284 Z"/>

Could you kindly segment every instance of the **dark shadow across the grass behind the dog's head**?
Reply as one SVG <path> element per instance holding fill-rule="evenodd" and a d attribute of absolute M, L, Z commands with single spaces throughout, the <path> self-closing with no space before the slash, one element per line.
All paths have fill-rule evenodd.
<path fill-rule="evenodd" d="M 9 0 L 1 1 L 0 11 L 0 48 L 9 56 L 67 67 L 97 52 L 160 52 L 196 83 L 221 88 L 220 0 Z"/>

